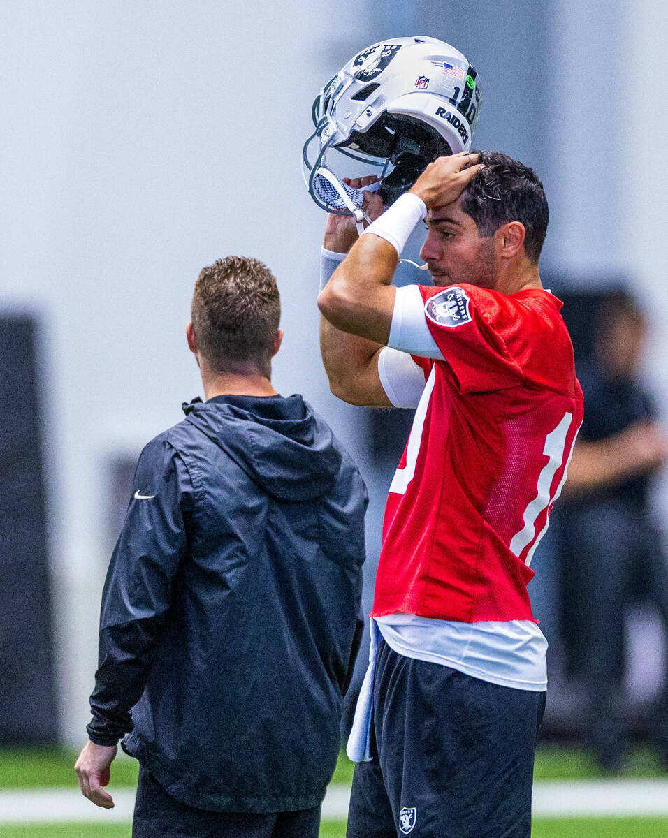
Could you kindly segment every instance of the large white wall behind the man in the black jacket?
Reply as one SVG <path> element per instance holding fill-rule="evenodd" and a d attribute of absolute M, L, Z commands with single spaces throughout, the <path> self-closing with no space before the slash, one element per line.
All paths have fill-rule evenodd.
<path fill-rule="evenodd" d="M 278 389 L 303 391 L 359 442 L 316 349 L 324 214 L 299 160 L 320 85 L 374 39 L 364 18 L 359 0 L 0 11 L 0 307 L 43 325 L 66 742 L 90 718 L 106 463 L 179 422 L 200 391 L 184 324 L 202 266 L 229 253 L 267 261 L 286 332 Z"/>

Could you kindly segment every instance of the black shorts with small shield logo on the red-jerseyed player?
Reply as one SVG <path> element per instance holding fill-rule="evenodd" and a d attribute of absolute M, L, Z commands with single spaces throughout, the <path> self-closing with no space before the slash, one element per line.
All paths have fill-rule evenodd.
<path fill-rule="evenodd" d="M 545 698 L 406 658 L 381 639 L 373 759 L 355 766 L 348 838 L 530 838 Z"/>

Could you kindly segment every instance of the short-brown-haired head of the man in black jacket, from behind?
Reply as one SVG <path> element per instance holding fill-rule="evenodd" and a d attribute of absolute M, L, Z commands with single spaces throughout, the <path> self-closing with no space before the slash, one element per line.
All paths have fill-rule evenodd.
<path fill-rule="evenodd" d="M 261 261 L 226 256 L 203 268 L 191 316 L 197 347 L 214 370 L 271 375 L 281 298 L 276 277 Z"/>

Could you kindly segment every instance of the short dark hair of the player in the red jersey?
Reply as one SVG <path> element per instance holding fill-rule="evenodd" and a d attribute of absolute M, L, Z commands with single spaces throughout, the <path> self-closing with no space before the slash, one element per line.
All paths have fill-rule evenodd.
<path fill-rule="evenodd" d="M 543 184 L 532 168 L 500 152 L 477 152 L 479 170 L 463 191 L 462 209 L 478 226 L 479 235 L 494 235 L 510 221 L 526 230 L 524 251 L 534 263 L 541 255 L 550 218 Z"/>

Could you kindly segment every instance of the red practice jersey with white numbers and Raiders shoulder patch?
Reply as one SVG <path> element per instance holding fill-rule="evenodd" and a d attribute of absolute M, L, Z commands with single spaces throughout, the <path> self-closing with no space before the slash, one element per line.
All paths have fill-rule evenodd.
<path fill-rule="evenodd" d="M 444 360 L 392 480 L 372 617 L 533 619 L 531 558 L 583 420 L 562 303 L 462 284 L 420 286 Z"/>

